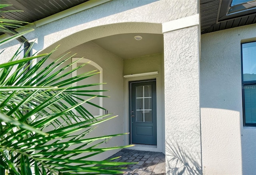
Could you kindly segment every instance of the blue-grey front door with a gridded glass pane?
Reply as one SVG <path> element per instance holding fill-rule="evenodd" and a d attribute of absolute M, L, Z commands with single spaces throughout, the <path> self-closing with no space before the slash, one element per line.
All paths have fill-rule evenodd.
<path fill-rule="evenodd" d="M 130 143 L 156 145 L 156 80 L 130 82 Z"/>

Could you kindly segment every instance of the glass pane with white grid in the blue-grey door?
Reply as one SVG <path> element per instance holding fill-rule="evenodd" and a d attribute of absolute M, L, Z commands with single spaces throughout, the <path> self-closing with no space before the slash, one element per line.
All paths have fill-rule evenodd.
<path fill-rule="evenodd" d="M 152 122 L 152 87 L 136 87 L 136 122 Z"/>

